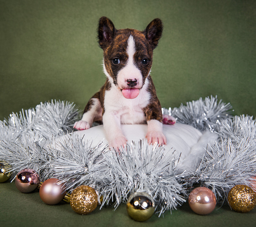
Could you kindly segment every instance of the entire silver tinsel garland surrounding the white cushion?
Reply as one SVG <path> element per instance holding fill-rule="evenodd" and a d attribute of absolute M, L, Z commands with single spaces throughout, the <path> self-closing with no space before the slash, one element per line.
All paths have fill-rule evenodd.
<path fill-rule="evenodd" d="M 56 177 L 68 191 L 82 184 L 92 186 L 101 207 L 117 207 L 131 193 L 147 192 L 161 215 L 185 202 L 194 184 L 210 188 L 219 201 L 226 200 L 233 185 L 250 184 L 256 168 L 255 120 L 244 115 L 233 118 L 231 108 L 212 96 L 163 108 L 177 122 L 219 134 L 219 141 L 207 147 L 192 172 L 177 174 L 172 151 L 144 141 L 128 144 L 120 154 L 109 150 L 107 142 L 93 147 L 72 133 L 48 144 L 71 131 L 76 119 L 73 103 L 63 101 L 41 103 L 0 121 L 0 160 L 10 163 L 13 171 L 32 168 L 43 180 Z"/>

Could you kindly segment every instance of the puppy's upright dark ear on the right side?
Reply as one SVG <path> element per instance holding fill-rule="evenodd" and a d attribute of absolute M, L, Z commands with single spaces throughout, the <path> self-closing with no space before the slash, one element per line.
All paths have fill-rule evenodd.
<path fill-rule="evenodd" d="M 162 36 L 163 27 L 163 21 L 159 18 L 156 18 L 152 20 L 148 24 L 147 28 L 143 31 L 146 39 L 153 46 L 153 49 L 156 48 L 158 41 Z"/>

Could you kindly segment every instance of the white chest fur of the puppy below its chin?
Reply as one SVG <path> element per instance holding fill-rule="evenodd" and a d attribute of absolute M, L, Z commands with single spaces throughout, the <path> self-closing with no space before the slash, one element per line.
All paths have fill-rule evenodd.
<path fill-rule="evenodd" d="M 140 89 L 137 98 L 124 98 L 122 92 L 112 86 L 110 90 L 105 92 L 104 114 L 114 114 L 120 119 L 121 124 L 139 124 L 146 123 L 146 116 L 143 108 L 149 103 L 150 93 L 147 91 L 148 79 L 144 86 Z"/>

